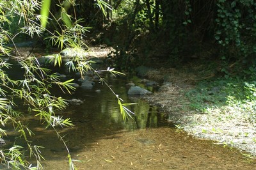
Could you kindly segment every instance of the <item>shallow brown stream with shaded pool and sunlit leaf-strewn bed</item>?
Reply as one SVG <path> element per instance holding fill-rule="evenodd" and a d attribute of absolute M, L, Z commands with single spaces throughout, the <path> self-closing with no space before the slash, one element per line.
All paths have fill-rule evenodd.
<path fill-rule="evenodd" d="M 133 119 L 124 121 L 116 98 L 107 86 L 95 83 L 92 89 L 77 88 L 67 99 L 83 104 L 69 105 L 57 116 L 70 118 L 73 128 L 59 128 L 78 169 L 255 169 L 256 163 L 236 149 L 194 139 L 166 121 L 156 106 L 127 95 L 130 77 L 106 77 L 109 85 L 129 107 Z M 51 128 L 45 129 L 33 115 L 22 121 L 35 135 L 29 139 L 42 148 L 44 169 L 68 169 L 68 153 Z M 8 135 L 10 142 L 24 143 Z"/>

